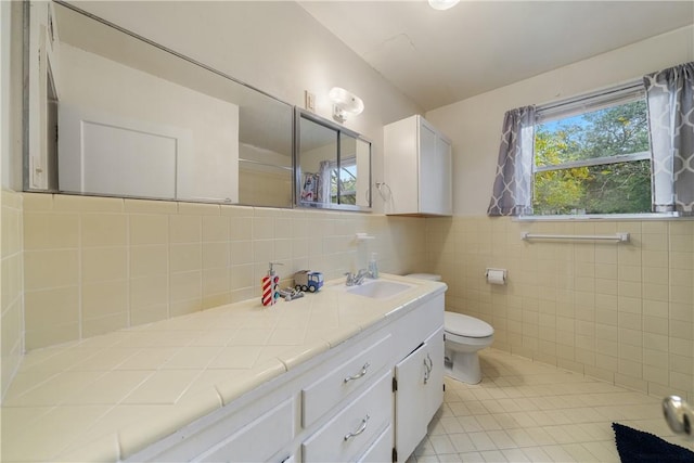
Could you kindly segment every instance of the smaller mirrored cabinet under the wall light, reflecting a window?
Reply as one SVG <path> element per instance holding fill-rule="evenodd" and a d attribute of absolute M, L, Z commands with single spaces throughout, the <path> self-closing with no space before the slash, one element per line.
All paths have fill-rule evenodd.
<path fill-rule="evenodd" d="M 370 210 L 371 143 L 298 108 L 295 127 L 297 205 Z"/>

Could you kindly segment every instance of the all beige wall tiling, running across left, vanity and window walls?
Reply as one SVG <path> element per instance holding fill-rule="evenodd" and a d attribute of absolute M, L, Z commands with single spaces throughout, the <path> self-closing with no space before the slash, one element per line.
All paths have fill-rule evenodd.
<path fill-rule="evenodd" d="M 24 227 L 27 349 L 258 297 L 271 260 L 288 285 L 296 270 L 338 278 L 377 252 L 382 271 L 440 273 L 449 309 L 490 322 L 496 348 L 694 400 L 694 221 L 417 219 L 8 193 L 2 207 L 3 381 L 21 352 L 13 275 Z M 520 231 L 627 231 L 631 242 L 525 242 Z M 357 232 L 376 239 L 358 245 Z M 507 285 L 487 284 L 487 267 L 507 269 Z"/>

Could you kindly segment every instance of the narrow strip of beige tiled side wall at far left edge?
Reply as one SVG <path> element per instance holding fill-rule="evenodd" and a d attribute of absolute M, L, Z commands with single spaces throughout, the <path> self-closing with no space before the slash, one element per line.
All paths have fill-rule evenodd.
<path fill-rule="evenodd" d="M 0 397 L 4 396 L 23 353 L 24 319 L 22 310 L 22 195 L 2 191 L 2 376 Z"/>

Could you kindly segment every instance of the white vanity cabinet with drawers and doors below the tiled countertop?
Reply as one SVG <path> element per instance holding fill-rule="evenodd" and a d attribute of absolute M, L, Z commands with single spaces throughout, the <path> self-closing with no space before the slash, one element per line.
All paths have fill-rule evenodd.
<path fill-rule="evenodd" d="M 410 304 L 126 461 L 407 460 L 444 399 L 444 293 Z"/>

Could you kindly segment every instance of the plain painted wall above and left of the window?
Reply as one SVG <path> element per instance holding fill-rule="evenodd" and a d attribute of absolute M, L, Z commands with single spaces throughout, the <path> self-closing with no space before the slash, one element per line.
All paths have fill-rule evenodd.
<path fill-rule="evenodd" d="M 427 120 L 453 142 L 453 214 L 487 214 L 506 111 L 542 104 L 694 60 L 694 26 L 444 106 Z"/>

